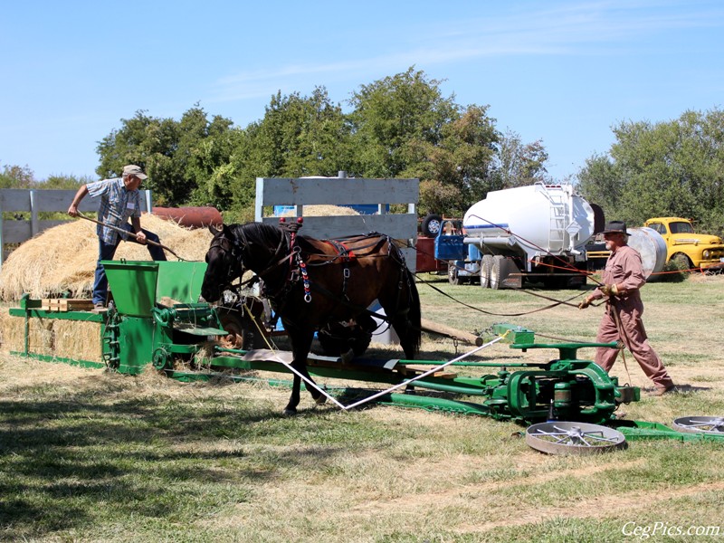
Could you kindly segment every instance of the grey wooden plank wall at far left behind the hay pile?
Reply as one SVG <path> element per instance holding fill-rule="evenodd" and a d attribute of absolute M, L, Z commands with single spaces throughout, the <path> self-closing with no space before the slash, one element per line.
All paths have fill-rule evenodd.
<path fill-rule="evenodd" d="M 0 269 L 7 257 L 5 243 L 23 243 L 34 235 L 42 233 L 43 230 L 66 223 L 67 221 L 46 221 L 38 218 L 43 212 L 66 212 L 71 205 L 73 196 L 77 190 L 56 190 L 56 189 L 24 189 L 24 188 L 3 188 L 0 189 Z M 142 190 L 141 211 L 148 211 L 152 207 L 151 191 Z M 78 209 L 84 213 L 95 213 L 98 211 L 98 199 L 86 196 L 81 201 Z M 30 213 L 30 220 L 14 220 L 6 218 L 5 214 Z M 68 217 L 68 220 L 71 217 Z"/>

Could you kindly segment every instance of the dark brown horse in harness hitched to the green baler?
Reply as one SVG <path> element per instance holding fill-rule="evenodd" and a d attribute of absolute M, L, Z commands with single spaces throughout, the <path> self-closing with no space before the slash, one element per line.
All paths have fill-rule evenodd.
<path fill-rule="evenodd" d="M 262 295 L 271 302 L 291 338 L 291 367 L 305 378 L 307 356 L 315 330 L 332 322 L 371 320 L 367 307 L 379 300 L 400 338 L 405 357 L 420 348 L 420 299 L 413 274 L 395 241 L 380 233 L 346 240 L 316 240 L 297 235 L 293 224 L 224 224 L 214 233 L 206 253 L 208 268 L 201 287 L 207 301 L 222 292 L 244 270 L 263 281 Z M 295 414 L 300 403 L 300 377 L 285 414 Z M 310 387 L 314 400 L 326 399 Z"/>

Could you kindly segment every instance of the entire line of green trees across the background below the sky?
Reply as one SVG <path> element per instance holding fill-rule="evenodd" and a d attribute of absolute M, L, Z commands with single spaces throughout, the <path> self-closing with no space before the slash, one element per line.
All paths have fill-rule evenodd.
<path fill-rule="evenodd" d="M 247 127 L 209 115 L 199 104 L 180 119 L 139 110 L 98 143 L 96 174 L 118 176 L 125 164 L 144 167 L 158 205 L 214 205 L 224 219 L 253 218 L 256 177 L 417 177 L 421 214 L 462 216 L 489 191 L 548 176 L 541 140 L 523 142 L 501 130 L 489 106 L 462 105 L 443 95 L 443 81 L 414 67 L 373 81 L 342 104 L 324 87 L 271 96 L 262 119 Z M 679 119 L 614 126 L 605 154 L 586 159 L 571 181 L 609 219 L 643 224 L 657 215 L 724 224 L 724 115 L 686 111 Z M 87 179 L 53 177 L 41 186 L 72 188 Z M 0 187 L 38 185 L 22 167 L 0 171 Z"/>

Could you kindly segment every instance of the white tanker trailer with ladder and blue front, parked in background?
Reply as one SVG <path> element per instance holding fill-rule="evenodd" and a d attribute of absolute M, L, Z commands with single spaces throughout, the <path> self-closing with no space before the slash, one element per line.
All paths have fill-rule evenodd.
<path fill-rule="evenodd" d="M 603 230 L 600 208 L 571 185 L 536 183 L 491 191 L 465 213 L 462 234 L 435 239 L 435 258 L 448 262 L 451 283 L 480 281 L 520 288 L 523 279 L 549 287 L 584 284 L 585 245 Z M 443 225 L 444 226 L 444 225 Z"/>

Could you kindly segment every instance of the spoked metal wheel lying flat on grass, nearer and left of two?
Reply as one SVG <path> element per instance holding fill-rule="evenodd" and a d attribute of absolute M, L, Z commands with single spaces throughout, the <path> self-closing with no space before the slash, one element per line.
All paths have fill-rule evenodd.
<path fill-rule="evenodd" d="M 548 454 L 596 454 L 623 448 L 626 438 L 598 424 L 555 422 L 529 426 L 526 443 Z"/>

